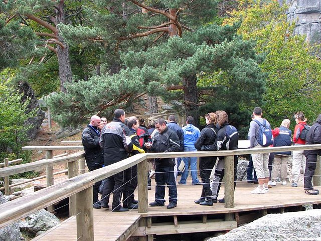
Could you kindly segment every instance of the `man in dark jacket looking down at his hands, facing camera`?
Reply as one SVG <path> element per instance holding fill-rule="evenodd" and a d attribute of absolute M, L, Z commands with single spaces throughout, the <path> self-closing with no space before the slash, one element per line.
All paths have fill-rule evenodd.
<path fill-rule="evenodd" d="M 155 134 L 154 143 L 151 147 L 153 152 L 179 152 L 180 140 L 177 134 L 166 126 L 164 119 L 157 119 L 155 128 L 158 133 Z M 149 203 L 150 206 L 164 206 L 165 204 L 165 184 L 169 188 L 170 204 L 167 208 L 177 206 L 177 187 L 174 180 L 174 158 L 155 159 L 155 201 Z"/>

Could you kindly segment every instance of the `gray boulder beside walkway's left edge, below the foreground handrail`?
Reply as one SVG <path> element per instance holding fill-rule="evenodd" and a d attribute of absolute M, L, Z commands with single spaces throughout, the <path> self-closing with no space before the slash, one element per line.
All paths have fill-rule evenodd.
<path fill-rule="evenodd" d="M 60 220 L 54 214 L 42 209 L 26 217 L 19 226 L 22 231 L 38 235 L 59 223 Z"/>

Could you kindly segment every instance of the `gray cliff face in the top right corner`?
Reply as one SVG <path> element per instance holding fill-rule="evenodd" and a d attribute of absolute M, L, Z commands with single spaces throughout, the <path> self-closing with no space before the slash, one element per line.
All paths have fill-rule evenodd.
<path fill-rule="evenodd" d="M 295 22 L 295 34 L 306 35 L 311 43 L 321 43 L 321 1 L 283 0 L 289 6 L 287 19 Z"/>

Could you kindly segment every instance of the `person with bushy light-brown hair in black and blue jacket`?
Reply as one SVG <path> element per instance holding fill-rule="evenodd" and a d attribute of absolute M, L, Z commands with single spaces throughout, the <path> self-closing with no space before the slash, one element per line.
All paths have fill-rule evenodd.
<path fill-rule="evenodd" d="M 201 150 L 203 151 L 226 151 L 226 150 L 236 150 L 238 146 L 239 133 L 235 127 L 229 125 L 229 117 L 224 110 L 217 110 L 217 141 L 213 145 L 204 146 Z M 238 156 L 234 156 L 234 188 L 237 181 L 237 163 Z M 219 191 L 221 188 L 222 180 L 224 177 L 224 165 L 225 158 L 219 157 L 217 162 L 214 178 L 211 186 L 212 202 L 216 203 L 217 201 L 224 203 L 225 198 L 218 199 Z M 205 205 L 205 204 L 203 204 Z"/>

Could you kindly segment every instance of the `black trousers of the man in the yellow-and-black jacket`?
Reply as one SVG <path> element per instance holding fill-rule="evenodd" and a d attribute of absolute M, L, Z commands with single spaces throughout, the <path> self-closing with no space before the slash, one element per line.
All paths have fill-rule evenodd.
<path fill-rule="evenodd" d="M 122 203 L 129 207 L 134 200 L 134 191 L 137 187 L 137 165 L 125 170 L 125 181 Z"/>

